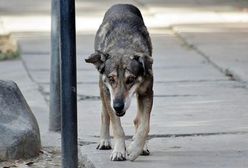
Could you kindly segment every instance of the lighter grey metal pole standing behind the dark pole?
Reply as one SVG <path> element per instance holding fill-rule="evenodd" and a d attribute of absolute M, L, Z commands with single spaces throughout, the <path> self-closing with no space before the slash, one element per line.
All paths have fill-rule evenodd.
<path fill-rule="evenodd" d="M 59 1 L 60 0 L 51 1 L 51 70 L 49 130 L 55 132 L 61 131 Z"/>

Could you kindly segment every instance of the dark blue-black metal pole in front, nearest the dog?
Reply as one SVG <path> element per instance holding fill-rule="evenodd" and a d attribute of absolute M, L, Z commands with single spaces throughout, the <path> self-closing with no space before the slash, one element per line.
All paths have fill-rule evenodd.
<path fill-rule="evenodd" d="M 75 0 L 60 1 L 62 167 L 78 167 Z"/>

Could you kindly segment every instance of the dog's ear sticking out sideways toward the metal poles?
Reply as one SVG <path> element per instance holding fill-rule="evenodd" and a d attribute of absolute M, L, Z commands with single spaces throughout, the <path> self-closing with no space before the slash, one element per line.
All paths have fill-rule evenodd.
<path fill-rule="evenodd" d="M 105 54 L 101 51 L 96 51 L 95 53 L 91 54 L 89 58 L 85 59 L 85 62 L 94 64 L 96 69 L 103 73 L 104 71 L 104 63 L 108 59 L 109 55 Z"/>

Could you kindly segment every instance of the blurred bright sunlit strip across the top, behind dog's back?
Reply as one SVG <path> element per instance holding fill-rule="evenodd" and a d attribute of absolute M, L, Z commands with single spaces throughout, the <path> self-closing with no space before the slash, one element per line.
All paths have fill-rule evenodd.
<path fill-rule="evenodd" d="M 180 24 L 247 22 L 246 0 L 76 0 L 77 31 L 95 32 L 115 3 L 138 6 L 150 29 Z M 11 32 L 48 32 L 50 0 L 1 0 L 1 24 Z"/>

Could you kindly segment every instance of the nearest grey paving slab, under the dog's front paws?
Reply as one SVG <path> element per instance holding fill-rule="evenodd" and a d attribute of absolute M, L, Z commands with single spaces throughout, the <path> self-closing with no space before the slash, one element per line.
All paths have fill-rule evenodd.
<path fill-rule="evenodd" d="M 140 156 L 134 162 L 112 162 L 110 151 L 97 151 L 95 145 L 81 149 L 95 168 L 244 168 L 248 166 L 247 138 L 247 135 L 153 138 L 149 141 L 151 155 Z"/>

